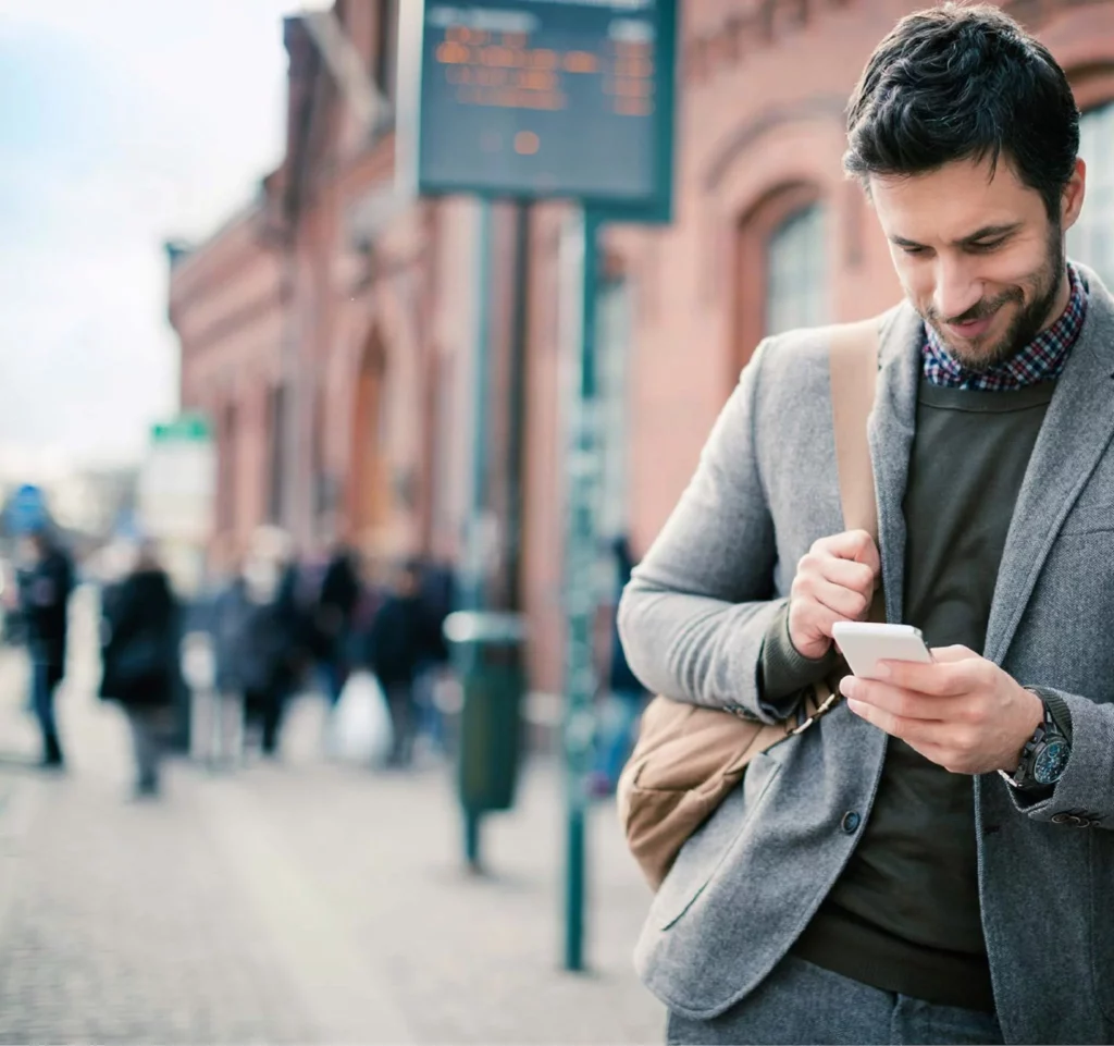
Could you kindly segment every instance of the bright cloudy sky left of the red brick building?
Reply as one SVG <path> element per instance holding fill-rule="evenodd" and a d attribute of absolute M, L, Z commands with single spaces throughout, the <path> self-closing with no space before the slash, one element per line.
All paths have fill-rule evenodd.
<path fill-rule="evenodd" d="M 0 0 L 0 468 L 135 458 L 173 414 L 163 242 L 278 163 L 299 7 Z"/>

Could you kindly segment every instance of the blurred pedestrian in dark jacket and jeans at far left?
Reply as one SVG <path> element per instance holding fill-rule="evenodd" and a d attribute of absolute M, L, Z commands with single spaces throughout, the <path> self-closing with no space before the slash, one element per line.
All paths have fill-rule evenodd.
<path fill-rule="evenodd" d="M 42 765 L 60 768 L 65 758 L 58 738 L 55 693 L 66 675 L 74 564 L 47 523 L 27 537 L 22 552 L 20 609 L 31 659 L 31 704 L 42 735 Z"/>

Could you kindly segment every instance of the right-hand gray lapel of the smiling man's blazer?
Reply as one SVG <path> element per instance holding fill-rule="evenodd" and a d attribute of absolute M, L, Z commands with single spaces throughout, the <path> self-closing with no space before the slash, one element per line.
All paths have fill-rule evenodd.
<path fill-rule="evenodd" d="M 1056 382 L 1017 496 L 998 568 L 985 656 L 1006 657 L 1040 568 L 1114 435 L 1114 301 L 1083 265 L 1087 317 Z"/>

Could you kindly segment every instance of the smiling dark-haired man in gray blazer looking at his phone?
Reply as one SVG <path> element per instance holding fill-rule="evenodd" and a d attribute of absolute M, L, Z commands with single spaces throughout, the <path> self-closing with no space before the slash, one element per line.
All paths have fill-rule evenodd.
<path fill-rule="evenodd" d="M 828 338 L 773 338 L 620 628 L 653 690 L 766 721 L 879 581 L 935 664 L 844 678 L 750 764 L 639 971 L 677 1043 L 1112 1042 L 1114 300 L 1064 254 L 1078 112 L 1040 43 L 949 4 L 879 46 L 848 129 L 908 299 L 870 422 L 880 550 L 842 532 Z"/>

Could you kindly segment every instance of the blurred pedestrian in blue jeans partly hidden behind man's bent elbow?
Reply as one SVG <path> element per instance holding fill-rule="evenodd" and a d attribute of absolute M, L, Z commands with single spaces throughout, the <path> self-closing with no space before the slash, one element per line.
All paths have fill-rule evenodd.
<path fill-rule="evenodd" d="M 592 791 L 597 796 L 612 795 L 615 792 L 623 764 L 626 763 L 634 746 L 638 717 L 648 697 L 646 688 L 627 664 L 618 633 L 618 603 L 635 565 L 627 537 L 619 536 L 614 540 L 612 555 L 615 560 L 616 587 L 610 614 L 607 693 L 596 746 L 596 768 L 592 779 Z"/>

